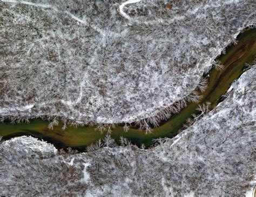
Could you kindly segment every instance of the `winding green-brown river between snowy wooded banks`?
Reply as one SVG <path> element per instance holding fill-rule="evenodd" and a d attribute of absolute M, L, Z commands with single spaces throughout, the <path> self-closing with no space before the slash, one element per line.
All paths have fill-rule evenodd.
<path fill-rule="evenodd" d="M 210 110 L 220 103 L 222 96 L 227 92 L 232 82 L 239 78 L 245 71 L 246 63 L 252 64 L 256 57 L 256 29 L 249 29 L 240 33 L 237 38 L 238 44 L 227 47 L 226 54 L 218 57 L 218 60 L 225 66 L 223 70 L 212 69 L 208 74 L 207 89 L 200 93 L 202 98 L 199 103 L 188 103 L 183 110 L 172 116 L 159 127 L 154 128 L 151 134 L 145 134 L 137 128 L 130 128 L 125 133 L 122 126 L 116 126 L 111 137 L 117 142 L 123 136 L 129 139 L 132 144 L 138 146 L 144 144 L 149 147 L 153 144 L 153 139 L 169 137 L 177 135 L 193 113 L 198 113 L 197 107 L 200 104 L 210 102 Z M 10 139 L 21 135 L 32 135 L 40 139 L 52 142 L 57 147 L 72 147 L 78 150 L 84 150 L 87 145 L 95 142 L 100 138 L 104 138 L 105 133 L 95 131 L 95 127 L 68 127 L 62 130 L 62 124 L 49 130 L 48 121 L 41 119 L 31 120 L 29 124 L 19 123 L 11 124 L 8 122 L 0 124 L 0 136 L 3 139 Z"/>

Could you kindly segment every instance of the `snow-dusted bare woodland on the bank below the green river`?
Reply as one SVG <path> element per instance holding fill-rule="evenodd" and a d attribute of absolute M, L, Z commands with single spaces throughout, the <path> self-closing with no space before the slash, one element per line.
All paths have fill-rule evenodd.
<path fill-rule="evenodd" d="M 256 170 L 255 76 L 256 65 L 214 110 L 150 150 L 128 145 L 67 154 L 32 137 L 3 141 L 0 195 L 250 195 Z"/>

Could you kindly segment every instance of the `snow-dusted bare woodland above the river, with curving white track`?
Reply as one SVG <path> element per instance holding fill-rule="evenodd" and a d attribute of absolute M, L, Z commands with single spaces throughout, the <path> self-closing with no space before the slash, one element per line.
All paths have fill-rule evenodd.
<path fill-rule="evenodd" d="M 0 116 L 121 123 L 196 88 L 253 1 L 2 0 Z M 254 14 L 254 15 L 253 15 Z"/>

